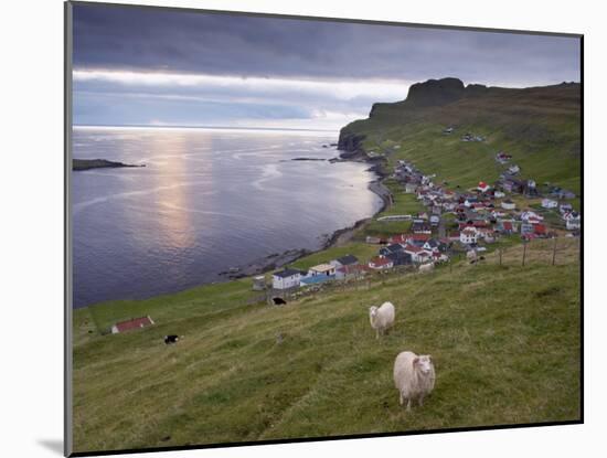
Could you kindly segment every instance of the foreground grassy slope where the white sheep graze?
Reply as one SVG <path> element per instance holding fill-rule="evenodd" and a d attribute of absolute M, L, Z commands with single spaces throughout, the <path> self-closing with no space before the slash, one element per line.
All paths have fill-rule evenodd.
<path fill-rule="evenodd" d="M 377 275 L 284 307 L 247 305 L 256 292 L 238 280 L 75 310 L 75 449 L 576 419 L 579 264 L 576 241 L 563 243 L 556 266 L 530 249 L 521 267 L 511 248 L 502 267 L 490 255 Z M 368 308 L 385 300 L 396 326 L 376 341 Z M 148 313 L 156 326 L 102 335 Z M 168 333 L 184 338 L 164 345 Z M 411 413 L 392 383 L 403 350 L 430 353 L 437 371 Z"/>

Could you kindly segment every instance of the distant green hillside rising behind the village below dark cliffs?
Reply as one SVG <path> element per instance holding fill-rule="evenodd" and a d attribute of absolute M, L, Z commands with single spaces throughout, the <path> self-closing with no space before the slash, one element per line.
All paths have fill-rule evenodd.
<path fill-rule="evenodd" d="M 340 145 L 388 152 L 390 163 L 408 159 L 422 171 L 437 173 L 436 182 L 446 180 L 454 188 L 494 181 L 503 170 L 494 155 L 502 150 L 513 156 L 523 177 L 581 193 L 579 84 L 526 89 L 468 86 L 455 102 L 436 100 L 436 90 L 440 89 L 429 87 L 416 97 L 409 92 L 404 102 L 375 104 L 369 119 L 342 129 Z M 443 135 L 448 126 L 456 130 Z M 466 132 L 486 136 L 487 141 L 462 142 Z"/>

